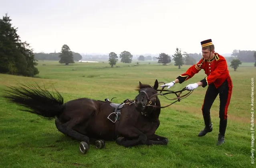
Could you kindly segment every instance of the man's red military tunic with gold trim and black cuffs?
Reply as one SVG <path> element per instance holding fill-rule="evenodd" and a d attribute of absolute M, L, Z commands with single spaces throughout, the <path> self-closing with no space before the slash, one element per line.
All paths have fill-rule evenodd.
<path fill-rule="evenodd" d="M 203 82 L 202 87 L 214 83 L 215 87 L 218 88 L 227 78 L 231 81 L 226 59 L 220 54 L 214 53 L 214 57 L 211 60 L 204 60 L 204 58 L 202 58 L 197 64 L 188 68 L 185 73 L 179 75 L 177 77 L 179 83 L 192 78 L 192 76 L 198 73 L 201 69 L 203 69 L 207 75 L 206 78 L 201 80 L 201 82 Z"/>

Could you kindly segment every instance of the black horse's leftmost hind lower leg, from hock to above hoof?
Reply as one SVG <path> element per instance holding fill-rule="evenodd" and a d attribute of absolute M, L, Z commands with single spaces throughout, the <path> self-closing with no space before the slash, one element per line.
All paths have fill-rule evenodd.
<path fill-rule="evenodd" d="M 65 124 L 62 124 L 60 122 L 60 120 L 58 120 L 58 118 L 55 118 L 55 125 L 57 127 L 57 129 L 62 132 L 63 134 L 67 135 L 67 136 L 70 136 L 71 138 L 74 138 L 76 140 L 79 140 L 79 141 L 84 141 L 86 142 L 87 144 L 90 144 L 89 143 L 89 137 L 88 136 L 85 136 L 83 134 L 80 134 L 79 132 L 73 130 L 72 128 L 70 128 L 69 126 L 65 125 Z"/>

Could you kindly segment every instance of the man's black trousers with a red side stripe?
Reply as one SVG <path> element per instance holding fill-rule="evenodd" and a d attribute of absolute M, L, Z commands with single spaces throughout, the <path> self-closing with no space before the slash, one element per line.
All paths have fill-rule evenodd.
<path fill-rule="evenodd" d="M 227 119 L 228 119 L 228 106 L 230 103 L 230 98 L 232 94 L 232 81 L 230 78 L 227 78 L 223 84 L 216 88 L 214 83 L 211 83 L 206 90 L 206 94 L 204 97 L 204 103 L 202 106 L 202 112 L 204 116 L 204 122 L 206 126 L 211 124 L 210 118 L 210 109 L 216 97 L 220 96 L 220 111 L 219 111 L 219 118 L 220 118 L 220 134 L 225 135 L 226 127 L 227 127 Z"/>

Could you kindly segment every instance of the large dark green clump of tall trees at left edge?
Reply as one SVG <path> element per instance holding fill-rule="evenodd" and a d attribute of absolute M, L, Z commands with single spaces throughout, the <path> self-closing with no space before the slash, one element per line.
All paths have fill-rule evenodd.
<path fill-rule="evenodd" d="M 32 77 L 39 73 L 34 54 L 11 21 L 7 14 L 0 19 L 0 73 Z"/>

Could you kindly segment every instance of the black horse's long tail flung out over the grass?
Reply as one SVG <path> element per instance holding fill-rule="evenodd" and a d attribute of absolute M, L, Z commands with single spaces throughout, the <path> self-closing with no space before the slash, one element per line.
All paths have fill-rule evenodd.
<path fill-rule="evenodd" d="M 20 87 L 9 86 L 9 90 L 5 90 L 7 94 L 3 97 L 9 102 L 26 107 L 25 110 L 20 109 L 21 111 L 37 114 L 47 119 L 60 115 L 64 110 L 63 97 L 60 93 L 55 90 L 56 92 L 51 94 L 45 88 L 36 86 L 32 84 L 28 86 L 22 84 Z"/>

